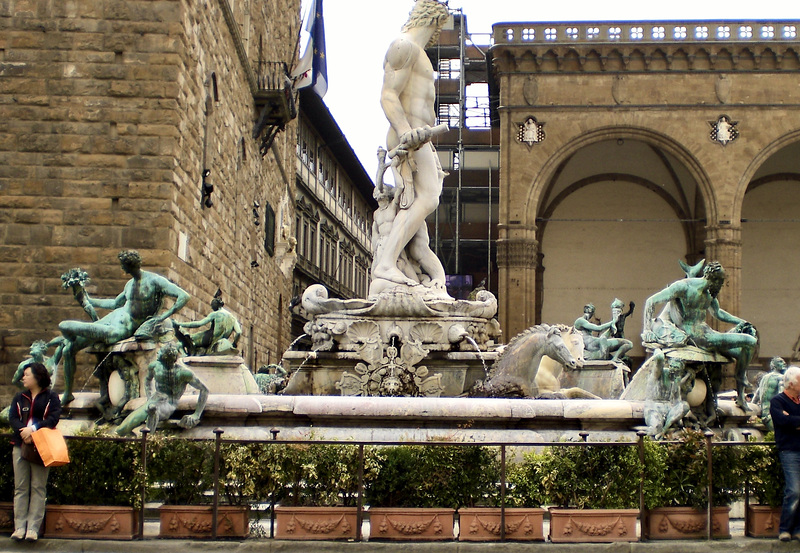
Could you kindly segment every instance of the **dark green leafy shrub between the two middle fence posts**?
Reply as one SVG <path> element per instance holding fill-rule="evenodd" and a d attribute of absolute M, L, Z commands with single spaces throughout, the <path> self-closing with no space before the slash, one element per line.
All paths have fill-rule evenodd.
<path fill-rule="evenodd" d="M 473 507 L 497 504 L 496 448 L 464 445 L 382 447 L 367 486 L 373 507 Z"/>

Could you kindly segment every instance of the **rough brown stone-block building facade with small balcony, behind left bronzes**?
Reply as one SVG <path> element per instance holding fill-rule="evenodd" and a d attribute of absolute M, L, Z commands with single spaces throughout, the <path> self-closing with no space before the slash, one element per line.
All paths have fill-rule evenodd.
<path fill-rule="evenodd" d="M 285 349 L 299 14 L 300 0 L 0 1 L 0 382 L 85 318 L 59 276 L 79 266 L 93 296 L 116 296 L 122 249 L 191 294 L 181 318 L 220 288 L 251 366 Z"/>

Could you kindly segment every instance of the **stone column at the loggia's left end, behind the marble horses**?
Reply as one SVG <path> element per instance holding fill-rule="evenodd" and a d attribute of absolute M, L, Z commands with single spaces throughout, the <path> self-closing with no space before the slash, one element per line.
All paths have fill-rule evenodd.
<path fill-rule="evenodd" d="M 535 229 L 512 231 L 501 225 L 501 236 L 505 237 L 497 242 L 498 310 L 506 342 L 535 320 L 539 242 L 529 234 L 535 234 Z"/>

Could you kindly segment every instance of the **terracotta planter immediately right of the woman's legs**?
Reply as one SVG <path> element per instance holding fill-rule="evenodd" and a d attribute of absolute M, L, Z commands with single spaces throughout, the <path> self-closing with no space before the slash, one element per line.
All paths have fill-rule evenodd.
<path fill-rule="evenodd" d="M 132 540 L 139 534 L 139 510 L 107 505 L 48 505 L 46 538 Z"/>

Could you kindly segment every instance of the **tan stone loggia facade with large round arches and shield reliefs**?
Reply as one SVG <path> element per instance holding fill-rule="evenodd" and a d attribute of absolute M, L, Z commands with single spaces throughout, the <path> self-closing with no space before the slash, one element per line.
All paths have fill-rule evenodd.
<path fill-rule="evenodd" d="M 722 263 L 762 361 L 800 325 L 798 22 L 497 24 L 499 301 L 506 336 L 615 297 L 641 308 Z M 634 322 L 635 321 L 635 322 Z M 727 328 L 727 326 L 725 327 Z"/>

